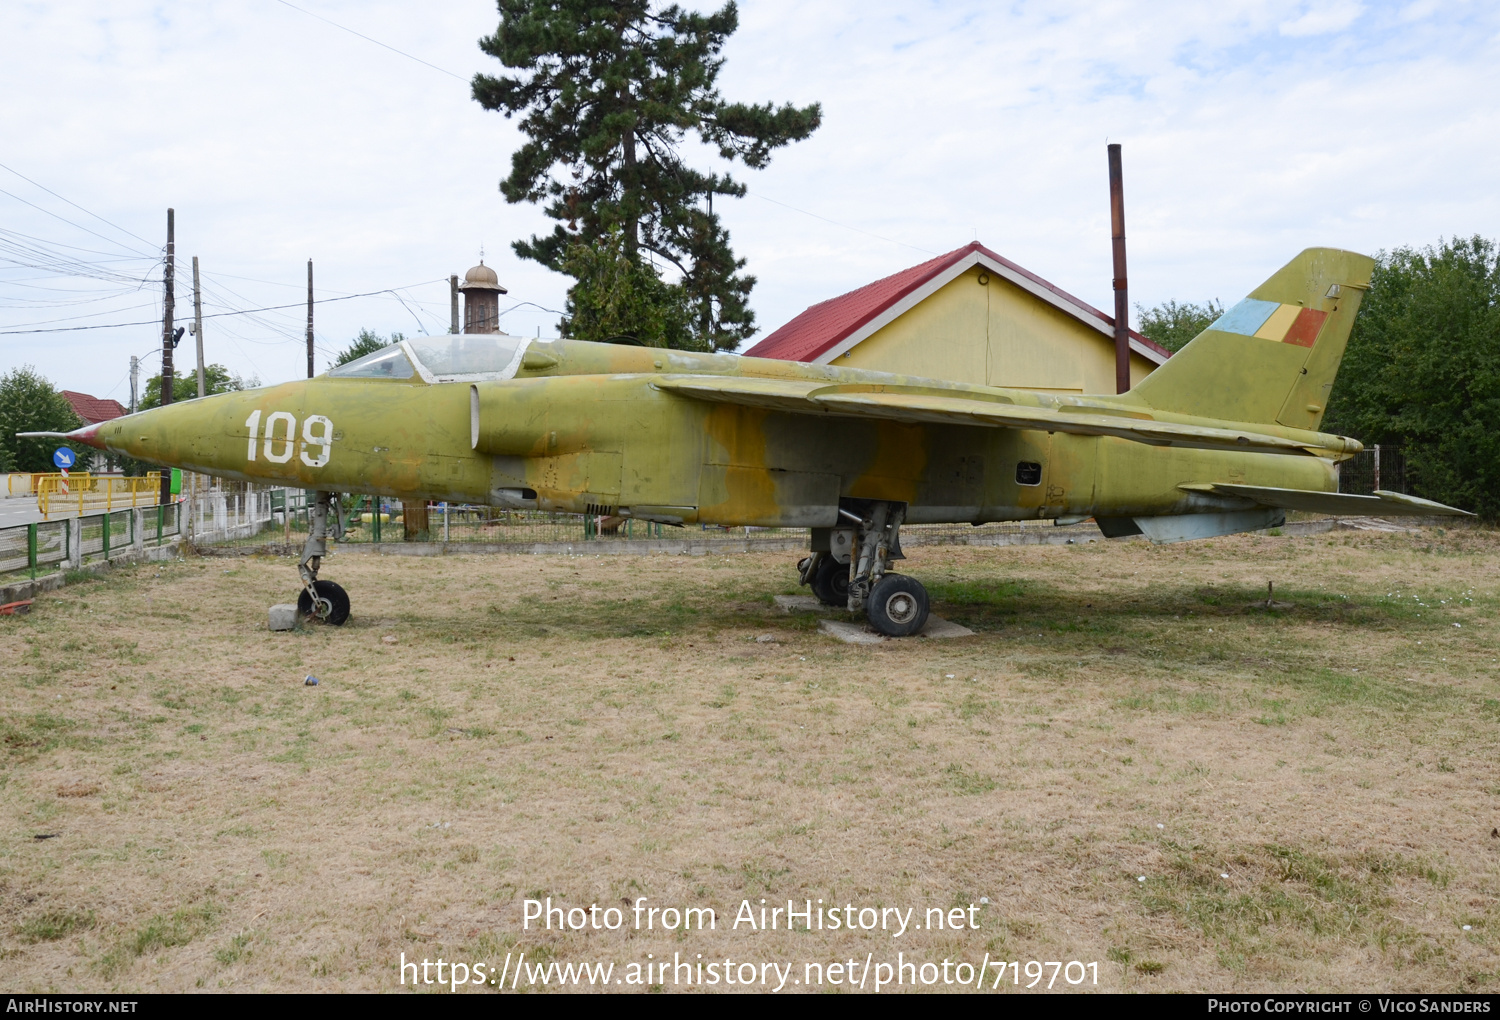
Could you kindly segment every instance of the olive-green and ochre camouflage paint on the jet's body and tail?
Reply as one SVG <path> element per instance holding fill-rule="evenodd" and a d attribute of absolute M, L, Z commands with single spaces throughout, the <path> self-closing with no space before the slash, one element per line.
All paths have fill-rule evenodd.
<path fill-rule="evenodd" d="M 1244 504 L 1179 486 L 1336 490 L 1334 464 L 1359 444 L 1311 429 L 1368 279 L 1360 255 L 1304 252 L 1252 294 L 1269 309 L 1251 334 L 1215 328 L 1234 324 L 1221 320 L 1120 396 L 536 340 L 512 380 L 324 375 L 144 411 L 84 438 L 154 464 L 306 489 L 723 525 L 830 526 L 840 498 L 908 502 L 912 524 L 1224 510 Z M 1324 314 L 1316 322 L 1302 315 L 1312 304 Z M 722 399 L 670 390 L 674 380 L 716 376 L 734 384 Z M 795 410 L 812 384 L 852 402 Z M 1292 452 L 954 423 L 963 408 L 1233 428 Z M 1018 482 L 1022 462 L 1042 465 L 1040 484 Z"/>

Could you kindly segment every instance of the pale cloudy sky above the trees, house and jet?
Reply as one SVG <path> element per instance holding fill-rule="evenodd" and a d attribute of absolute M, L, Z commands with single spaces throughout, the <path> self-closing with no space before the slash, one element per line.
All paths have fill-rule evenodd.
<path fill-rule="evenodd" d="M 0 370 L 34 364 L 122 402 L 130 354 L 158 372 L 150 324 L 12 330 L 156 320 L 160 288 L 140 280 L 159 279 L 168 206 L 180 321 L 194 255 L 206 315 L 303 300 L 309 258 L 320 298 L 384 291 L 318 306 L 320 370 L 360 327 L 444 332 L 447 276 L 482 246 L 510 288 L 501 308 L 530 303 L 507 330 L 555 334 L 542 309 L 562 306 L 564 278 L 510 250 L 550 224 L 500 195 L 518 135 L 470 98 L 466 80 L 498 68 L 476 45 L 494 3 L 296 4 L 0 4 L 0 164 L 34 182 L 0 170 Z M 1500 236 L 1500 4 L 747 0 L 740 14 L 723 94 L 824 105 L 810 140 L 740 174 L 747 198 L 716 204 L 759 279 L 762 330 L 976 237 L 1110 308 L 1107 141 L 1125 152 L 1136 303 L 1234 302 L 1312 244 Z M 303 330 L 298 308 L 210 318 L 207 356 L 297 378 Z"/>

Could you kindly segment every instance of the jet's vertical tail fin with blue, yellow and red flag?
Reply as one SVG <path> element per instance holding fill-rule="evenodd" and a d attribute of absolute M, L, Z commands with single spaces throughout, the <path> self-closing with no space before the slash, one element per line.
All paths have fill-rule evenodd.
<path fill-rule="evenodd" d="M 1316 430 L 1374 264 L 1306 249 L 1131 394 L 1158 411 Z"/>

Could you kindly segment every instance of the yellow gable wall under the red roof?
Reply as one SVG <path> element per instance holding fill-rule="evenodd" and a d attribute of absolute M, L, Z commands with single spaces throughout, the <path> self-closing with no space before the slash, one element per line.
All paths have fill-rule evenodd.
<path fill-rule="evenodd" d="M 988 284 L 980 284 L 981 274 Z M 1131 352 L 1131 384 L 1156 368 Z M 980 386 L 1113 393 L 1114 340 L 974 267 L 834 364 Z"/>

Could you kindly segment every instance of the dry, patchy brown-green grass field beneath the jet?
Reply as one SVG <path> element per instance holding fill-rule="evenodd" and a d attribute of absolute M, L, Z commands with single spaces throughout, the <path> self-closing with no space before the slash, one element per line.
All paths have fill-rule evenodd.
<path fill-rule="evenodd" d="M 344 555 L 354 618 L 292 634 L 288 560 L 39 597 L 0 618 L 3 984 L 900 951 L 1500 988 L 1500 534 L 918 548 L 978 633 L 879 646 L 780 614 L 792 560 Z M 522 930 L 548 896 L 718 926 Z M 730 930 L 744 898 L 981 897 L 978 930 Z"/>

